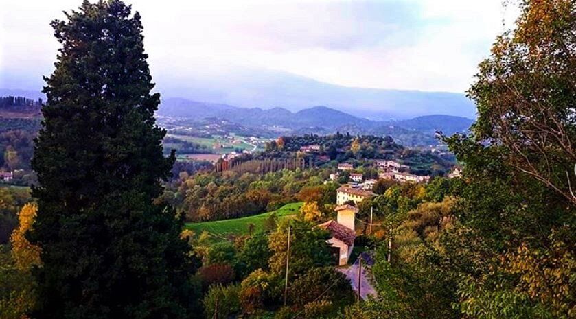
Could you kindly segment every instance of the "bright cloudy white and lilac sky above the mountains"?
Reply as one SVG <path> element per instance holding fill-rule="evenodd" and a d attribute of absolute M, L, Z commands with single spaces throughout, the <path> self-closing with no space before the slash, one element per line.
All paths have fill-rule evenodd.
<path fill-rule="evenodd" d="M 2 1 L 0 88 L 41 88 L 58 49 L 49 21 L 80 2 Z M 244 67 L 344 86 L 459 93 L 516 14 L 502 0 L 126 2 L 142 16 L 157 78 Z"/>

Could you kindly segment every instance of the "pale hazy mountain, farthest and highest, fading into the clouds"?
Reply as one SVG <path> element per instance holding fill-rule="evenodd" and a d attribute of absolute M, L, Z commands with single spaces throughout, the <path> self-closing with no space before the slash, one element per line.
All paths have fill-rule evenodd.
<path fill-rule="evenodd" d="M 164 98 L 183 97 L 243 108 L 281 107 L 296 112 L 322 105 L 374 120 L 435 114 L 476 117 L 474 104 L 461 93 L 355 88 L 266 69 L 235 68 L 184 75 L 160 71 L 154 80 Z"/>

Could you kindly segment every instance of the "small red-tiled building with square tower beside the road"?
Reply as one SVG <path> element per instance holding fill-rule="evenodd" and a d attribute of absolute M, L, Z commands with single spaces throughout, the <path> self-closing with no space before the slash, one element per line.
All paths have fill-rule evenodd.
<path fill-rule="evenodd" d="M 329 220 L 319 227 L 324 228 L 330 232 L 332 238 L 326 242 L 331 244 L 332 255 L 336 260 L 337 265 L 345 265 L 354 249 L 354 239 L 356 232 L 354 231 L 354 220 L 358 209 L 351 205 L 336 206 L 334 209 L 338 213 L 336 220 Z"/>

